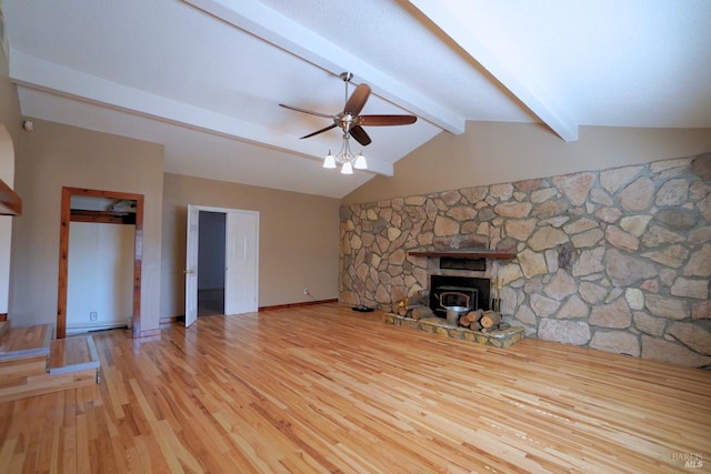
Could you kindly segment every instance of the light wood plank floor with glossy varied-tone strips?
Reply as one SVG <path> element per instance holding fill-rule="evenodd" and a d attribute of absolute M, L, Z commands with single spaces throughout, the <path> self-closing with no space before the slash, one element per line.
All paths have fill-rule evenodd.
<path fill-rule="evenodd" d="M 535 340 L 480 346 L 334 304 L 93 337 L 100 385 L 0 404 L 2 472 L 711 466 L 707 371 Z"/>

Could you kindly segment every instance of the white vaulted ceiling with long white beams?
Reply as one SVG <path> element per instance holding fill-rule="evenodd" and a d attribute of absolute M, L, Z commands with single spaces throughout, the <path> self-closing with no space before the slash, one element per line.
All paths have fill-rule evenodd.
<path fill-rule="evenodd" d="M 1 0 L 0 0 L 1 1 Z M 465 121 L 711 128 L 709 0 L 4 0 L 22 113 L 162 143 L 166 171 L 341 198 Z M 322 169 L 354 73 L 372 170 Z M 349 90 L 352 91 L 353 87 Z M 354 150 L 356 151 L 356 150 Z M 433 159 L 437 159 L 433 157 Z"/>

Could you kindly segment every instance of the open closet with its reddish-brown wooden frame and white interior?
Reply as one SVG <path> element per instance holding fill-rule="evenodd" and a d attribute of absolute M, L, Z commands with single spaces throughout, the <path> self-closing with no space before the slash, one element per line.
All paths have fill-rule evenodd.
<path fill-rule="evenodd" d="M 57 339 L 110 327 L 140 336 L 143 195 L 62 188 Z"/>

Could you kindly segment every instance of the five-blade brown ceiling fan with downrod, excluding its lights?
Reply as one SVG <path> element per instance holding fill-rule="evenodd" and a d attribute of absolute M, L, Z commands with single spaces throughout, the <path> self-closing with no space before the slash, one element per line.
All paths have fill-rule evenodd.
<path fill-rule="evenodd" d="M 370 87 L 367 84 L 359 84 L 351 97 L 348 97 L 348 83 L 351 79 L 353 79 L 353 73 L 351 72 L 341 72 L 339 78 L 343 80 L 346 84 L 346 105 L 343 107 L 343 111 L 337 113 L 336 115 L 330 115 L 328 113 L 313 112 L 310 110 L 300 109 L 298 107 L 286 105 L 280 103 L 279 105 L 284 109 L 296 110 L 297 112 L 310 113 L 311 115 L 323 117 L 328 119 L 332 119 L 333 123 L 322 128 L 321 130 L 317 130 L 313 133 L 309 133 L 308 135 L 301 137 L 302 139 L 308 139 L 313 135 L 318 135 L 319 133 L 323 133 L 328 130 L 340 127 L 343 130 L 344 137 L 352 137 L 356 139 L 358 143 L 365 147 L 371 143 L 370 137 L 363 130 L 363 127 L 383 127 L 383 125 L 408 125 L 410 123 L 414 123 L 418 118 L 414 115 L 359 115 L 360 111 L 365 105 L 365 101 L 370 95 Z"/>

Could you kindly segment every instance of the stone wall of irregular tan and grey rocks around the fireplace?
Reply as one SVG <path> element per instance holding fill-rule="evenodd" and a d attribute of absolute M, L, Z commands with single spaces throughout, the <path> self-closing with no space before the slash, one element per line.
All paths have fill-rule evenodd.
<path fill-rule="evenodd" d="M 429 288 L 409 250 L 488 261 L 527 336 L 711 366 L 711 153 L 341 208 L 340 299 L 389 305 Z"/>

